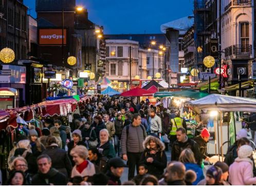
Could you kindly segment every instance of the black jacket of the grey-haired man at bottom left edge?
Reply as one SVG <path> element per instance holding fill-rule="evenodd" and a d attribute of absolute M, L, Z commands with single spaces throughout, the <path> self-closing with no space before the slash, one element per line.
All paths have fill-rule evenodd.
<path fill-rule="evenodd" d="M 32 178 L 32 185 L 66 185 L 67 178 L 56 169 L 51 168 L 47 174 L 38 172 Z"/>

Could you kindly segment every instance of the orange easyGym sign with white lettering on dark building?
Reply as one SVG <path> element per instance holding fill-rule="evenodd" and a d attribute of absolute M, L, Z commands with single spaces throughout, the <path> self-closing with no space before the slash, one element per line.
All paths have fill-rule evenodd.
<path fill-rule="evenodd" d="M 63 44 L 66 45 L 66 29 Z M 39 45 L 62 45 L 62 29 L 39 29 Z"/>

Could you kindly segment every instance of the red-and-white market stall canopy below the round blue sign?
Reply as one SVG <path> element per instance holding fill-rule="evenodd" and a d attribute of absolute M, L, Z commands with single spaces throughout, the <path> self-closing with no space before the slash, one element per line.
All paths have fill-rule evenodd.
<path fill-rule="evenodd" d="M 67 116 L 76 110 L 78 101 L 76 99 L 60 99 L 53 101 L 44 101 L 33 105 L 39 107 L 40 115 L 46 116 Z"/>

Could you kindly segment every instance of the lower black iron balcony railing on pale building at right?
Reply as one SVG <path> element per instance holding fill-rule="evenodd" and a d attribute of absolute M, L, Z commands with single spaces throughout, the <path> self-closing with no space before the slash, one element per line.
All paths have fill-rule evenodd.
<path fill-rule="evenodd" d="M 251 45 L 232 45 L 225 48 L 225 57 L 232 59 L 250 58 L 252 53 Z M 231 57 L 232 56 L 232 57 Z"/>

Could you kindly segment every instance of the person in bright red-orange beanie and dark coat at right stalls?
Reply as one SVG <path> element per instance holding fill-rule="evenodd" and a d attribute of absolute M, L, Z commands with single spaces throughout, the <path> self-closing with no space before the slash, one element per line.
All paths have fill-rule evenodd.
<path fill-rule="evenodd" d="M 195 137 L 195 142 L 198 144 L 199 146 L 199 151 L 200 151 L 200 155 L 201 158 L 209 161 L 209 157 L 207 156 L 207 143 L 209 141 L 210 138 L 210 133 L 207 130 L 207 128 L 204 128 L 200 134 L 200 136 Z"/>

